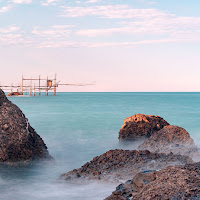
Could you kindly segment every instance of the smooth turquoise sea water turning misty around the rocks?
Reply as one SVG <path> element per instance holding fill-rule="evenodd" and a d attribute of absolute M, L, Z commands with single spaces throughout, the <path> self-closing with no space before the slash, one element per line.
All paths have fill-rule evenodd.
<path fill-rule="evenodd" d="M 2 200 L 102 200 L 116 185 L 62 184 L 57 178 L 93 157 L 121 148 L 123 120 L 136 113 L 160 115 L 199 142 L 200 93 L 58 93 L 10 97 L 44 139 L 56 164 L 0 171 Z"/>

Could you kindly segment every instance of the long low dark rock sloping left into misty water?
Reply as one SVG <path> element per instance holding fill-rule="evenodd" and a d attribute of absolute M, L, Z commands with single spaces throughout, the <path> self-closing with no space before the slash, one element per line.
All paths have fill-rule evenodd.
<path fill-rule="evenodd" d="M 110 150 L 79 169 L 61 175 L 60 179 L 69 182 L 102 180 L 121 182 L 132 179 L 140 171 L 158 170 L 168 165 L 193 163 L 188 156 L 151 153 L 136 150 Z"/>

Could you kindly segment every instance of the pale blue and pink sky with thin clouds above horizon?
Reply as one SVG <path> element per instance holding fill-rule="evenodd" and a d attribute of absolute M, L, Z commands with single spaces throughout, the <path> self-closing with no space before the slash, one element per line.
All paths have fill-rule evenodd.
<path fill-rule="evenodd" d="M 0 84 L 65 92 L 200 91 L 199 0 L 0 0 Z"/>

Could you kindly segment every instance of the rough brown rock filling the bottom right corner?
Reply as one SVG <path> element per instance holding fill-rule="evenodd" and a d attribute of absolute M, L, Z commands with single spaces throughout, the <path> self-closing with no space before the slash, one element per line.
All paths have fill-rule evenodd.
<path fill-rule="evenodd" d="M 138 173 L 105 200 L 200 199 L 200 163 Z"/>

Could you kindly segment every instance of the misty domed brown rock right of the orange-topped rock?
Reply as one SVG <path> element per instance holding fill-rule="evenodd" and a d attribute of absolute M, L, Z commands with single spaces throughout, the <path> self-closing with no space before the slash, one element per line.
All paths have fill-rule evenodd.
<path fill-rule="evenodd" d="M 156 153 L 174 153 L 188 155 L 194 160 L 199 160 L 200 155 L 190 134 L 178 126 L 165 126 L 160 131 L 141 144 L 139 149 Z"/>

